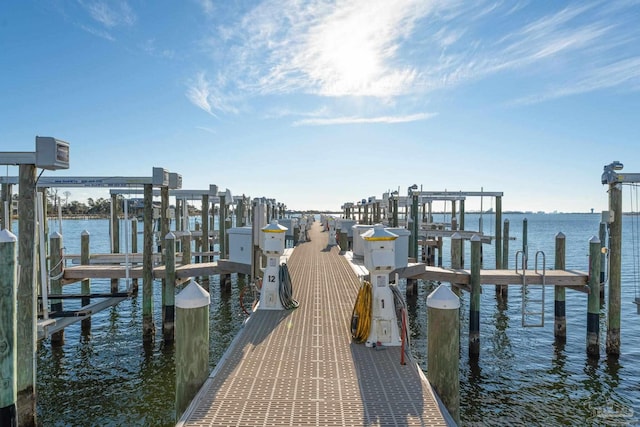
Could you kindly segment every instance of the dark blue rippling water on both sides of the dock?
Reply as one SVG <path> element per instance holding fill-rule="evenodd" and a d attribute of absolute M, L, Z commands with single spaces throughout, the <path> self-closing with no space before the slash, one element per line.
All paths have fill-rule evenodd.
<path fill-rule="evenodd" d="M 515 250 L 522 245 L 524 217 L 503 217 L 510 220 L 510 235 L 517 239 L 510 243 L 511 266 Z M 599 215 L 526 217 L 530 253 L 544 251 L 547 267 L 552 267 L 555 235 L 562 231 L 567 236 L 567 268 L 587 270 L 588 240 L 598 233 Z M 608 358 L 604 349 L 606 307 L 601 316 L 601 357 L 587 358 L 585 294 L 567 291 L 568 336 L 566 344 L 558 346 L 553 338 L 552 290 L 547 292 L 545 327 L 525 329 L 520 325 L 519 287 L 510 287 L 508 302 L 498 307 L 491 286 L 484 287 L 482 294 L 480 359 L 470 362 L 468 295 L 463 296 L 460 390 L 465 425 L 640 425 L 640 315 L 632 303 L 640 285 L 634 277 L 631 220 L 624 219 L 623 354 L 618 359 Z M 493 221 L 493 217 L 484 217 L 485 233 L 494 234 Z M 467 215 L 467 229 L 477 229 L 477 224 L 477 216 Z M 91 233 L 92 252 L 108 251 L 107 221 L 66 221 L 63 225 L 68 253 L 79 252 L 79 236 L 85 229 Z M 444 253 L 448 253 L 446 246 Z M 493 259 L 493 248 L 485 246 L 485 265 L 495 265 Z M 446 255 L 444 263 L 449 265 Z M 212 368 L 244 320 L 235 276 L 233 280 L 230 295 L 220 292 L 215 276 L 210 282 Z M 107 290 L 109 284 L 96 281 L 92 287 Z M 424 369 L 428 287 L 424 284 L 418 297 L 409 301 L 412 351 Z M 159 289 L 158 282 L 156 292 Z M 71 303 L 66 307 L 72 308 Z M 48 340 L 42 342 L 37 361 L 39 421 L 45 426 L 173 425 L 173 348 L 162 342 L 158 302 L 154 310 L 158 335 L 148 347 L 141 339 L 141 296 L 95 315 L 90 336 L 82 336 L 76 324 L 67 328 L 64 346 L 52 348 Z"/>

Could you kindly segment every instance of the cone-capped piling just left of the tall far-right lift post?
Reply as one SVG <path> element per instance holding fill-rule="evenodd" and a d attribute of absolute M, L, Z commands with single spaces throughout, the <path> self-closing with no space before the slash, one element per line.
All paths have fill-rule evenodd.
<path fill-rule="evenodd" d="M 587 355 L 600 356 L 600 240 L 595 236 L 589 241 Z"/>

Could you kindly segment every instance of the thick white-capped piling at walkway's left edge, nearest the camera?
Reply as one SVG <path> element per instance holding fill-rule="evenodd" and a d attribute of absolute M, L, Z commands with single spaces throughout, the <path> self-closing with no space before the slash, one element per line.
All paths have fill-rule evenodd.
<path fill-rule="evenodd" d="M 209 375 L 210 303 L 194 280 L 176 296 L 176 419 Z"/>

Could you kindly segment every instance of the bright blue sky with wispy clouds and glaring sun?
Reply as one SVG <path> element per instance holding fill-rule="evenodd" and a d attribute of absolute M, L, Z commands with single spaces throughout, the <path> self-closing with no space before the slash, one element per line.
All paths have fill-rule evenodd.
<path fill-rule="evenodd" d="M 56 175 L 160 166 L 293 209 L 415 183 L 600 211 L 605 164 L 640 172 L 639 19 L 637 0 L 3 1 L 0 151 L 55 136 Z"/>

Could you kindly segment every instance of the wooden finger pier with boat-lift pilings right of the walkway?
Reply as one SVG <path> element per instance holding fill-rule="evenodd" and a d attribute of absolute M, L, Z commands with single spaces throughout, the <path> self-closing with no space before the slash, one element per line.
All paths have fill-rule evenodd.
<path fill-rule="evenodd" d="M 620 182 L 635 182 L 638 179 L 640 181 L 640 174 L 625 174 L 613 175 L 613 170 L 616 170 L 610 166 L 611 171 L 607 172 L 605 167 L 605 175 L 603 175 L 603 183 L 611 181 L 611 186 L 619 186 Z M 621 212 L 622 207 L 619 206 L 618 197 L 614 188 L 614 191 L 610 189 L 610 197 L 612 212 Z M 565 239 L 562 233 L 558 233 L 556 237 L 556 254 L 555 264 L 551 269 L 547 269 L 546 261 L 544 259 L 544 253 L 535 254 L 535 262 L 532 260 L 529 262 L 529 248 L 527 244 L 527 221 L 523 221 L 523 237 L 522 248 L 516 252 L 516 267 L 513 270 L 507 268 L 509 265 L 509 240 L 513 238 L 509 236 L 509 221 L 502 221 L 502 196 L 501 192 L 449 192 L 449 191 L 422 191 L 418 190 L 418 186 L 414 185 L 409 187 L 408 196 L 399 196 L 397 191 L 386 193 L 382 197 L 383 203 L 381 204 L 380 221 L 387 225 L 391 232 L 396 232 L 392 226 L 396 224 L 404 225 L 411 234 L 408 248 L 408 262 L 405 264 L 399 263 L 399 268 L 396 268 L 390 275 L 390 280 L 394 280 L 394 276 L 399 279 L 406 279 L 407 281 L 407 296 L 411 295 L 412 290 L 416 289 L 416 283 L 418 280 L 430 281 L 430 282 L 446 282 L 452 285 L 452 290 L 461 295 L 461 292 L 466 291 L 470 295 L 470 307 L 469 307 L 469 354 L 471 357 L 478 357 L 480 353 L 480 293 L 482 287 L 486 285 L 495 286 L 496 298 L 498 301 L 505 301 L 508 297 L 508 289 L 511 286 L 518 286 L 522 291 L 521 314 L 522 314 L 522 326 L 523 327 L 542 327 L 545 320 L 545 289 L 549 286 L 554 290 L 554 336 L 557 341 L 562 341 L 566 337 L 566 316 L 565 316 L 565 291 L 567 289 L 584 292 L 589 295 L 589 306 L 585 307 L 587 312 L 587 354 L 589 357 L 597 358 L 599 356 L 598 343 L 599 343 L 599 326 L 597 324 L 597 313 L 600 305 L 600 298 L 596 299 L 592 294 L 594 289 L 598 289 L 598 293 L 602 293 L 603 289 L 603 277 L 602 270 L 604 269 L 601 253 L 606 253 L 605 246 L 602 242 L 604 240 L 602 232 L 602 224 L 600 226 L 600 240 L 595 239 L 589 242 L 590 263 L 586 266 L 586 271 L 566 270 L 565 269 Z M 465 201 L 468 197 L 489 197 L 494 198 L 490 212 L 495 214 L 495 236 L 487 235 L 483 232 L 482 217 L 479 223 L 479 231 L 469 231 L 465 229 Z M 482 199 L 481 199 L 482 200 Z M 449 223 L 435 223 L 433 221 L 432 204 L 434 202 L 442 202 L 451 204 L 451 222 Z M 373 221 L 374 214 L 376 212 L 376 206 L 379 204 L 375 197 L 369 197 L 368 199 L 362 199 L 358 203 L 345 203 L 342 206 L 343 217 L 346 219 L 347 215 L 353 218 L 358 218 L 365 224 L 370 224 Z M 352 212 L 352 209 L 357 206 L 358 211 Z M 619 207 L 618 207 L 619 206 Z M 459 210 L 457 209 L 459 207 Z M 482 208 L 481 202 L 481 211 Z M 404 217 L 402 214 L 404 212 Z M 615 221 L 613 214 L 609 215 L 612 223 Z M 605 215 L 605 217 L 609 217 Z M 404 221 L 402 221 L 404 219 Z M 368 230 L 371 226 L 357 224 L 353 227 L 354 239 L 362 238 L 361 233 Z M 615 245 L 619 245 L 620 233 L 616 234 L 615 227 L 609 226 L 611 229 L 614 253 L 616 252 Z M 359 231 L 357 231 L 358 229 Z M 342 230 L 341 230 L 342 231 Z M 404 231 L 404 230 L 403 230 Z M 613 237 L 613 236 L 617 237 Z M 442 238 L 451 239 L 451 266 L 450 268 L 443 267 L 442 261 Z M 436 240 L 437 239 L 437 240 Z M 468 240 L 471 244 L 471 260 L 468 269 L 465 269 L 464 260 L 464 240 Z M 595 244 L 600 245 L 600 250 L 595 251 Z M 495 269 L 484 269 L 482 262 L 482 246 L 483 244 L 495 244 Z M 398 242 L 398 245 L 403 246 L 404 242 Z M 422 257 L 417 257 L 420 253 L 418 251 L 419 246 L 422 246 Z M 434 253 L 429 249 L 433 248 L 439 250 L 438 262 L 434 260 Z M 357 260 L 356 252 L 358 244 L 353 244 L 353 260 L 357 264 L 361 264 L 361 261 Z M 412 249 L 413 247 L 413 249 Z M 396 250 L 398 250 L 396 248 Z M 533 254 L 532 254 L 533 256 Z M 417 258 L 420 258 L 419 260 Z M 540 258 L 541 260 L 539 260 Z M 614 255 L 612 261 L 617 258 Z M 421 262 L 416 262 L 421 261 Z M 617 262 L 617 261 L 615 261 Z M 595 264 L 594 264 L 595 263 Z M 597 264 L 597 265 L 596 265 Z M 437 266 L 436 266 L 437 265 Z M 612 265 L 612 269 L 614 266 Z M 598 277 L 595 277 L 597 275 Z M 617 280 L 617 273 L 612 271 L 612 280 Z M 610 279 L 611 280 L 611 279 Z M 597 285 L 594 284 L 597 282 Z M 610 303 L 608 304 L 608 316 L 613 319 L 608 326 L 608 352 L 612 352 L 611 348 L 615 348 L 616 336 L 619 336 L 619 329 L 616 330 L 616 320 L 619 318 L 619 301 L 616 302 L 616 285 L 611 283 L 614 287 L 610 292 Z M 613 296 L 613 300 L 611 300 Z M 619 328 L 619 327 L 618 327 Z M 616 335 L 618 334 L 618 335 Z M 613 337 L 613 338 L 611 338 Z M 618 339 L 619 342 L 619 339 Z M 613 344 L 611 344 L 613 343 Z M 619 345 L 619 344 L 618 344 Z M 614 351 L 615 352 L 615 351 Z"/>

